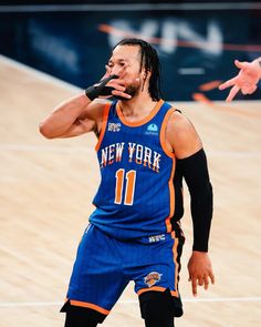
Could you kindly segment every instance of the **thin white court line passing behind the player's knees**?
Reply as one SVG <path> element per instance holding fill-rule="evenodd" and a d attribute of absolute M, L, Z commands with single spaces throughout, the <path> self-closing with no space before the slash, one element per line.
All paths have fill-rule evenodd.
<path fill-rule="evenodd" d="M 233 303 L 233 302 L 261 302 L 261 296 L 253 297 L 210 297 L 210 298 L 184 298 L 184 303 Z M 137 299 L 122 299 L 118 304 L 138 304 Z M 62 302 L 7 302 L 0 303 L 0 308 L 11 307 L 49 307 L 49 306 L 62 306 Z"/>

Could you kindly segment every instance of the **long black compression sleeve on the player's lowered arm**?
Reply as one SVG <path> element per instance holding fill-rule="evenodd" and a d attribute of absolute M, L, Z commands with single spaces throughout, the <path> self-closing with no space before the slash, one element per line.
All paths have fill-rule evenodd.
<path fill-rule="evenodd" d="M 178 160 L 190 193 L 194 225 L 194 251 L 208 252 L 208 239 L 212 219 L 212 186 L 208 164 L 201 149 L 194 155 Z"/>

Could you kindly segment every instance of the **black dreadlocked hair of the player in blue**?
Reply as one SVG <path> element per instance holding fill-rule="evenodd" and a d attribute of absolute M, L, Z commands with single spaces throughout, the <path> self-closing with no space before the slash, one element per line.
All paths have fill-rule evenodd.
<path fill-rule="evenodd" d="M 145 72 L 152 72 L 148 93 L 154 101 L 158 101 L 161 98 L 160 91 L 160 63 L 157 51 L 146 41 L 142 39 L 123 39 L 117 45 L 138 45 L 140 48 L 140 71 L 144 68 Z"/>

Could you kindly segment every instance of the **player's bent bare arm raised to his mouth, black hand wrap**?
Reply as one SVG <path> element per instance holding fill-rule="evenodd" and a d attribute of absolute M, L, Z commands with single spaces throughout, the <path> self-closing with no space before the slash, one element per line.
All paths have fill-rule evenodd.
<path fill-rule="evenodd" d="M 107 71 L 97 84 L 59 104 L 40 123 L 40 133 L 46 139 L 72 137 L 88 132 L 98 134 L 104 103 L 95 99 L 111 98 L 112 95 L 129 99 L 130 95 L 124 93 L 124 81 L 115 75 L 109 75 Z"/>

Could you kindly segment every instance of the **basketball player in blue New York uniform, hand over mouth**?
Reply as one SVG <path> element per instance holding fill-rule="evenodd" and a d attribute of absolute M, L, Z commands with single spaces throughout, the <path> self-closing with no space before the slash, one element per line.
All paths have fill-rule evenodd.
<path fill-rule="evenodd" d="M 112 95 L 117 100 L 97 100 Z M 208 256 L 212 188 L 194 125 L 160 99 L 155 49 L 139 39 L 122 40 L 102 81 L 61 103 L 40 131 L 48 139 L 97 136 L 102 180 L 61 309 L 65 327 L 102 324 L 129 280 L 145 326 L 174 327 L 174 317 L 182 315 L 182 177 L 191 195 L 188 272 L 195 296 L 198 285 L 207 289 L 215 282 Z"/>

